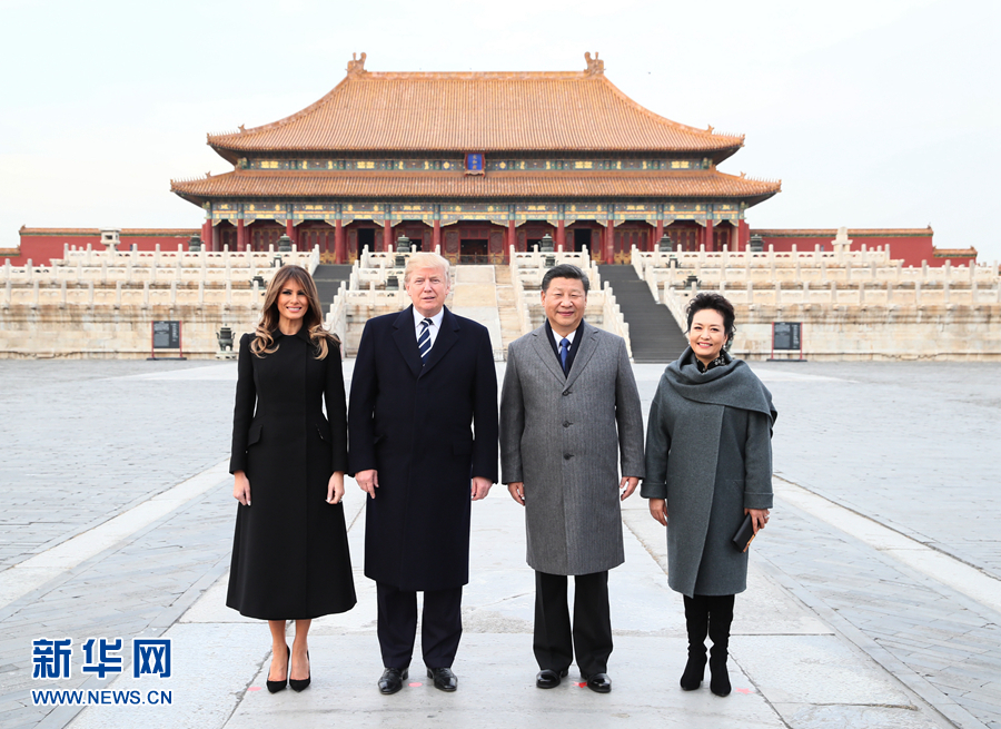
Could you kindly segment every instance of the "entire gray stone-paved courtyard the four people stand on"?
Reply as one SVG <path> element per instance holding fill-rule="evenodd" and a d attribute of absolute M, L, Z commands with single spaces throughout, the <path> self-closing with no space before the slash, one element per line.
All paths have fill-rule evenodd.
<path fill-rule="evenodd" d="M 730 698 L 677 688 L 681 600 L 637 496 L 611 582 L 613 692 L 535 689 L 533 578 L 502 486 L 474 505 L 459 691 L 429 689 L 418 671 L 379 696 L 353 484 L 359 604 L 317 621 L 314 684 L 270 696 L 266 629 L 222 604 L 235 365 L 0 361 L 0 727 L 1001 728 L 1001 365 L 754 368 L 780 412 L 777 498 L 737 598 Z M 635 366 L 644 405 L 662 370 Z M 72 638 L 75 668 L 91 637 L 171 638 L 174 676 L 132 679 L 123 651 L 118 678 L 32 680 L 41 637 Z M 81 688 L 166 688 L 172 702 L 81 710 L 31 693 Z"/>

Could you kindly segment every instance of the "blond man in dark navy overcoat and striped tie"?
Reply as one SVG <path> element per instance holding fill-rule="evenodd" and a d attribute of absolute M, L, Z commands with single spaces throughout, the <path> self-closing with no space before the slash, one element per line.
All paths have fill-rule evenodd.
<path fill-rule="evenodd" d="M 427 674 L 454 691 L 470 500 L 497 481 L 497 375 L 486 327 L 445 308 L 445 258 L 414 254 L 404 284 L 413 305 L 361 334 L 348 457 L 369 496 L 365 575 L 377 589 L 379 690 L 395 693 L 408 678 L 423 591 Z"/>

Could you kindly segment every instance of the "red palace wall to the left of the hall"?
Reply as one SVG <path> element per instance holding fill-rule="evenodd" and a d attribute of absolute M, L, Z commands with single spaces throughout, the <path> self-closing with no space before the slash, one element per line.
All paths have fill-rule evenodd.
<path fill-rule="evenodd" d="M 119 250 L 131 250 L 135 245 L 139 250 L 153 250 L 157 244 L 160 250 L 177 250 L 180 245 L 188 249 L 188 239 L 198 228 L 122 228 Z M 62 258 L 62 246 L 69 244 L 77 248 L 86 248 L 91 244 L 95 250 L 103 250 L 101 231 L 98 228 L 26 228 L 20 230 L 19 248 L 0 248 L 0 264 L 10 258 L 11 266 L 23 266 L 31 259 L 32 265 L 46 266 L 52 258 Z"/>

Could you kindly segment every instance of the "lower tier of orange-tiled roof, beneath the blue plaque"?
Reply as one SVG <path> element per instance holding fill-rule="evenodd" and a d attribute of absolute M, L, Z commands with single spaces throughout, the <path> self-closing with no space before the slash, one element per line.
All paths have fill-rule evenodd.
<path fill-rule="evenodd" d="M 701 171 L 615 173 L 336 173 L 235 170 L 196 180 L 174 180 L 188 198 L 750 198 L 771 197 L 781 183 Z M 757 200 L 760 201 L 760 200 Z"/>

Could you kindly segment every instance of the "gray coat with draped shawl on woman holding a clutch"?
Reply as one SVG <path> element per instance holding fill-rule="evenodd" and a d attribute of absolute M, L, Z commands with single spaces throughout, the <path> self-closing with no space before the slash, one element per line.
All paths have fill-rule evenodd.
<path fill-rule="evenodd" d="M 744 509 L 772 508 L 772 396 L 740 359 L 705 373 L 691 347 L 667 366 L 646 432 L 644 499 L 667 500 L 667 583 L 725 595 L 747 589 L 732 539 Z"/>

